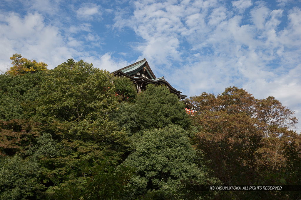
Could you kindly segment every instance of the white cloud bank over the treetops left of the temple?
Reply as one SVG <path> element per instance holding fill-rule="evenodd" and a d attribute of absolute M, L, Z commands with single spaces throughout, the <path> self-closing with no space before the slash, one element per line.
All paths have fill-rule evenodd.
<path fill-rule="evenodd" d="M 59 30 L 56 26 L 46 25 L 43 16 L 38 13 L 28 13 L 24 17 L 16 13 L 1 14 L 0 46 L 5 48 L 0 48 L 0 69 L 5 71 L 5 66 L 11 67 L 9 57 L 14 53 L 30 60 L 43 61 L 48 64 L 48 69 L 53 69 L 68 58 L 83 59 L 92 62 L 95 67 L 107 70 L 115 70 L 129 64 L 113 58 L 108 53 L 100 56 L 96 53 L 95 56 L 95 52 L 85 50 L 84 41 L 63 35 Z M 77 31 L 79 30 L 74 32 Z M 83 39 L 95 42 L 99 37 L 88 33 Z"/>

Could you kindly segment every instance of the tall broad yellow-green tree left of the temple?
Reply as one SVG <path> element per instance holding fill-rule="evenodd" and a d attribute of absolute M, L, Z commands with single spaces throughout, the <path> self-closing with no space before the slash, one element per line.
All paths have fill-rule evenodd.
<path fill-rule="evenodd" d="M 118 164 L 123 159 L 129 146 L 127 135 L 108 119 L 118 103 L 112 80 L 109 72 L 82 60 L 73 67 L 61 64 L 43 73 L 33 117 L 42 124 L 43 133 L 30 143 L 27 155 L 39 158 L 48 187 L 55 175 L 62 186 L 70 181 L 82 188 L 81 161 L 107 156 Z M 49 195 L 50 190 L 45 193 Z"/>

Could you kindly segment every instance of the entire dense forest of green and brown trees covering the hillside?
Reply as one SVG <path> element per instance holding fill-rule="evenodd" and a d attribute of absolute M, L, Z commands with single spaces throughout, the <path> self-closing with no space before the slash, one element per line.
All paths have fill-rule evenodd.
<path fill-rule="evenodd" d="M 301 199 L 300 191 L 201 191 L 300 185 L 294 113 L 237 87 L 190 97 L 84 61 L 52 70 L 11 57 L 0 75 L 0 200 Z"/>

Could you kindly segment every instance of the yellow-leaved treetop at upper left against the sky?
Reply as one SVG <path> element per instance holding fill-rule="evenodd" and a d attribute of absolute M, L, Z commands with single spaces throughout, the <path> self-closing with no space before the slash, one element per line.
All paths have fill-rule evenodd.
<path fill-rule="evenodd" d="M 42 71 L 47 69 L 47 64 L 44 62 L 37 62 L 36 60 L 30 61 L 27 58 L 22 58 L 20 54 L 14 54 L 12 57 L 10 57 L 13 64 L 13 67 L 11 67 L 6 74 L 11 75 L 24 75 L 28 72 L 30 73 L 36 73 L 37 71 Z"/>

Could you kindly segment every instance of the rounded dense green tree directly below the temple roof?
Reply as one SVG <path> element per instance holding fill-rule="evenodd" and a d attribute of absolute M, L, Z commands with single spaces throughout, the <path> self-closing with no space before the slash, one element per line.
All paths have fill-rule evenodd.
<path fill-rule="evenodd" d="M 166 87 L 150 84 L 138 94 L 135 104 L 120 104 L 112 118 L 130 134 L 170 124 L 188 129 L 190 120 L 184 108 L 185 105 Z"/>

